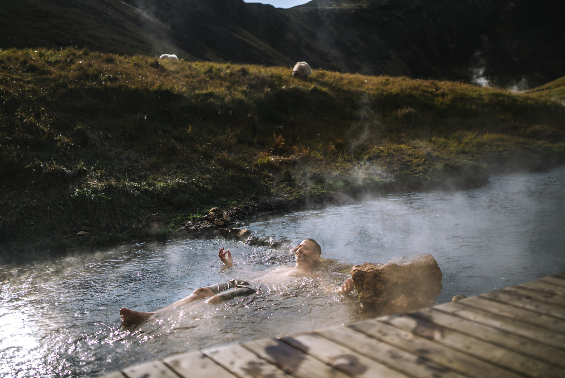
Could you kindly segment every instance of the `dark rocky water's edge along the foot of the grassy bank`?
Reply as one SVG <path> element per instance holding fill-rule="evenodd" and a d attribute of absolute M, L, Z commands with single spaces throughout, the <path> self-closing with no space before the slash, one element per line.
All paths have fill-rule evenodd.
<path fill-rule="evenodd" d="M 523 163 L 523 161 L 520 162 Z M 260 216 L 267 216 L 268 214 L 354 203 L 355 201 L 362 201 L 366 196 L 379 196 L 408 191 L 467 190 L 488 183 L 490 174 L 549 169 L 563 164 L 563 162 L 563 159 L 545 160 L 546 165 L 537 164 L 536 166 L 528 166 L 527 164 L 496 165 L 491 162 L 491 164 L 486 166 L 487 169 L 481 171 L 480 174 L 460 174 L 458 177 L 445 178 L 443 181 L 401 182 L 388 178 L 372 186 L 356 187 L 354 190 L 347 192 L 333 192 L 323 195 L 308 194 L 299 199 L 288 199 L 284 197 L 260 198 L 236 207 L 216 205 L 216 207 L 212 207 L 210 211 L 203 216 L 194 217 L 192 220 L 181 224 L 180 228 L 175 230 L 169 228 L 173 214 L 147 214 L 145 218 L 138 220 L 141 226 L 132 230 L 133 232 L 130 231 L 118 238 L 111 237 L 111 234 L 101 232 L 102 230 L 95 225 L 95 222 L 84 222 L 82 225 L 72 229 L 72 234 L 65 238 L 68 242 L 66 247 L 56 247 L 57 240 L 55 240 L 51 243 L 51 246 L 55 246 L 53 248 L 51 248 L 49 244 L 43 244 L 41 247 L 31 248 L 31 250 L 27 252 L 37 254 L 43 252 L 68 253 L 95 251 L 111 248 L 118 244 L 123 245 L 124 243 L 182 240 L 189 238 L 206 239 L 220 236 L 225 238 L 237 238 L 251 246 L 270 246 L 272 248 L 289 247 L 290 240 L 260 237 L 260 235 L 253 235 L 253 230 L 247 230 L 250 232 L 245 231 L 240 234 L 240 232 L 245 230 L 242 228 L 244 227 L 244 222 Z M 102 241 L 108 235 L 111 237 L 110 240 Z M 68 244 L 71 244 L 71 246 Z M 2 247 L 0 247 L 0 250 L 1 249 Z M 4 257 L 9 258 L 10 256 L 6 255 Z"/>

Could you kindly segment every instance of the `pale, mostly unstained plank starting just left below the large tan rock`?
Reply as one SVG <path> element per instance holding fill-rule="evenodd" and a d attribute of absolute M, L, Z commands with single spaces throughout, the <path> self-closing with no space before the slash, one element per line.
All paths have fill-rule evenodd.
<path fill-rule="evenodd" d="M 460 378 L 460 375 L 429 362 L 419 356 L 407 353 L 396 347 L 357 332 L 349 327 L 334 327 L 314 332 L 321 337 L 382 363 L 399 372 L 415 378 Z"/>

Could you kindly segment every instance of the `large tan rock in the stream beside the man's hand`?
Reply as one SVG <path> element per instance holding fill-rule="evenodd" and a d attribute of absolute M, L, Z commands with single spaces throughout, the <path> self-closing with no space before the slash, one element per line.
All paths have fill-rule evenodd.
<path fill-rule="evenodd" d="M 442 273 L 432 255 L 418 254 L 355 265 L 351 278 L 364 307 L 390 314 L 429 306 L 441 292 Z"/>

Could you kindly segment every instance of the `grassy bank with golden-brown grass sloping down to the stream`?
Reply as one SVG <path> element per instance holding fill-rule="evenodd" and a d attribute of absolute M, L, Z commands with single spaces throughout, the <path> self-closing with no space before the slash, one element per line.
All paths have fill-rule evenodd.
<path fill-rule="evenodd" d="M 0 51 L 0 244 L 103 246 L 212 206 L 470 185 L 563 161 L 565 108 L 471 85 Z M 77 237 L 88 226 L 91 233 Z"/>

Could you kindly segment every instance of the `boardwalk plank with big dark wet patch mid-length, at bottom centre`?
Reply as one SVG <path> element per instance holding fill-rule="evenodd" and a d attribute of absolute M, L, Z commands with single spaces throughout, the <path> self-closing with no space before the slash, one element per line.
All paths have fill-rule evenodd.
<path fill-rule="evenodd" d="M 250 341 L 243 343 L 242 346 L 297 378 L 347 377 L 344 373 L 276 338 Z"/>

